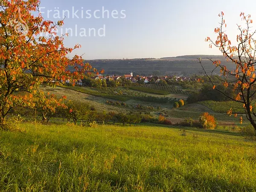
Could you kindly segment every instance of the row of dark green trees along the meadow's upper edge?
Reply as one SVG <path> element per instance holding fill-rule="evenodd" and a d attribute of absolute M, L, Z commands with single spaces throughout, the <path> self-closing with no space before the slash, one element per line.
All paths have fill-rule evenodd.
<path fill-rule="evenodd" d="M 63 122 L 90 126 L 97 123 L 105 125 L 108 122 L 113 124 L 120 123 L 122 125 L 129 124 L 130 126 L 140 123 L 143 115 L 140 113 L 121 113 L 121 112 L 99 112 L 93 106 L 81 102 L 67 101 L 64 105 L 55 105 L 55 109 L 47 108 L 45 105 L 38 105 L 30 108 L 17 108 L 11 111 L 13 116 L 26 117 L 30 119 L 40 118 L 42 123 L 48 123 L 52 118 L 61 119 Z"/>

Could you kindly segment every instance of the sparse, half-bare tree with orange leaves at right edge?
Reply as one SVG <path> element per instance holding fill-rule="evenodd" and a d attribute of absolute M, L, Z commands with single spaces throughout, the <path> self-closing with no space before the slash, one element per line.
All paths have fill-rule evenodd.
<path fill-rule="evenodd" d="M 213 89 L 218 90 L 223 93 L 229 99 L 241 103 L 242 113 L 234 113 L 234 109 L 231 108 L 227 111 L 228 115 L 240 116 L 240 122 L 242 123 L 243 116 L 245 114 L 247 119 L 250 121 L 251 125 L 256 130 L 256 39 L 254 35 L 256 31 L 252 31 L 251 25 L 253 20 L 251 20 L 250 15 L 245 15 L 243 12 L 240 14 L 244 25 L 237 25 L 239 30 L 239 35 L 236 37 L 237 45 L 231 44 L 228 38 L 225 28 L 226 22 L 224 20 L 224 13 L 219 14 L 221 17 L 220 26 L 216 27 L 214 32 L 218 35 L 217 40 L 213 41 L 211 38 L 207 37 L 206 41 L 209 42 L 209 47 L 218 47 L 221 53 L 227 58 L 227 61 L 232 61 L 236 70 L 229 70 L 220 61 L 212 61 L 215 65 L 215 70 L 219 69 L 221 73 L 221 80 L 225 87 L 233 87 L 235 92 L 235 97 L 232 98 L 225 94 L 223 91 L 218 90 L 215 83 L 212 81 L 212 76 L 215 70 L 211 73 L 207 73 L 202 65 L 201 58 L 199 58 L 199 63 L 201 64 L 205 75 L 208 77 L 209 81 L 213 85 Z"/>

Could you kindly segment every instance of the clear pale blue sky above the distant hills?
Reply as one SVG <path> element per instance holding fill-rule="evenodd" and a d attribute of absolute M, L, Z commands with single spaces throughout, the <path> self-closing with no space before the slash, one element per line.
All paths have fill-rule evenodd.
<path fill-rule="evenodd" d="M 76 54 L 84 54 L 85 59 L 96 58 L 161 58 L 177 55 L 219 55 L 218 49 L 209 49 L 204 39 L 215 37 L 213 30 L 218 26 L 218 13 L 223 11 L 227 22 L 227 31 L 236 39 L 236 23 L 241 23 L 240 12 L 251 14 L 256 18 L 255 0 L 247 0 L 239 6 L 241 0 L 41 0 L 41 11 L 48 20 L 57 20 L 53 12 L 47 10 L 59 8 L 70 11 L 70 18 L 64 20 L 64 30 L 75 26 L 89 30 L 98 30 L 105 25 L 105 37 L 65 38 L 65 46 L 81 44 Z M 102 18 L 102 7 L 109 10 L 110 18 Z M 72 7 L 84 12 L 84 18 L 72 18 Z M 83 9 L 81 9 L 83 7 Z M 95 18 L 93 12 L 97 12 Z M 85 18 L 87 10 L 92 17 Z M 119 18 L 111 17 L 112 10 L 117 10 Z M 120 18 L 121 10 L 126 17 Z M 67 14 L 67 12 L 66 12 Z M 66 15 L 67 16 L 67 15 Z M 115 15 L 116 16 L 116 15 Z M 256 20 L 255 20 L 256 23 Z"/>

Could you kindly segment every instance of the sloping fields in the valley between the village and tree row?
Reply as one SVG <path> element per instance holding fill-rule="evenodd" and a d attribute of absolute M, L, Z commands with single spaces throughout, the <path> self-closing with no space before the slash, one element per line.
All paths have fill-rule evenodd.
<path fill-rule="evenodd" d="M 144 87 L 142 87 L 144 88 Z M 167 87 L 168 88 L 168 87 Z M 230 105 L 233 102 L 198 102 L 194 104 L 186 104 L 178 109 L 173 108 L 173 101 L 175 99 L 186 100 L 187 95 L 183 93 L 169 93 L 168 95 L 159 95 L 156 93 L 148 93 L 151 89 L 145 89 L 148 92 L 142 92 L 139 90 L 130 89 L 130 87 L 115 87 L 115 88 L 105 88 L 96 89 L 90 87 L 41 87 L 45 93 L 50 92 L 56 94 L 58 97 L 63 95 L 67 96 L 68 100 L 78 101 L 81 103 L 92 105 L 97 111 L 114 111 L 114 112 L 149 112 L 152 116 L 158 117 L 162 113 L 166 118 L 176 118 L 180 119 L 175 122 L 181 122 L 188 118 L 198 119 L 199 116 L 204 112 L 209 112 L 214 115 L 220 124 L 230 122 L 233 125 L 234 122 L 239 123 L 237 118 L 234 116 L 226 115 L 227 110 L 230 109 Z M 122 94 L 116 94 L 121 92 Z M 168 103 L 155 103 L 146 102 L 140 100 L 145 98 L 145 96 L 153 96 L 155 98 L 167 98 L 171 102 Z M 109 105 L 106 102 L 124 102 L 126 107 L 118 105 Z M 236 104 L 236 103 L 235 103 Z M 134 108 L 137 105 L 143 105 L 143 109 Z M 154 107 L 154 110 L 148 110 L 147 106 Z M 246 118 L 244 118 L 246 122 Z"/>

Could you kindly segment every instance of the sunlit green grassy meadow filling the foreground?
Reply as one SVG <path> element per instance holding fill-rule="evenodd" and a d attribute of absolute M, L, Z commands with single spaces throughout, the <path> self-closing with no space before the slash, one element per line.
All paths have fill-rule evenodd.
<path fill-rule="evenodd" d="M 255 191 L 256 144 L 175 128 L 17 125 L 0 132 L 0 191 Z"/>

